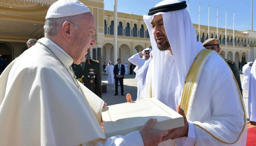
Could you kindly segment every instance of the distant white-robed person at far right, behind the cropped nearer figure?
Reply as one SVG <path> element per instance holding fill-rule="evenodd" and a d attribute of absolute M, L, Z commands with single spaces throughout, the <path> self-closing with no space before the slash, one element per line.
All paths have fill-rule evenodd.
<path fill-rule="evenodd" d="M 244 79 L 242 81 L 242 89 L 243 90 L 249 90 L 249 78 L 250 78 L 252 64 L 253 64 L 252 61 L 248 62 L 242 68 L 242 73 L 244 74 Z"/>

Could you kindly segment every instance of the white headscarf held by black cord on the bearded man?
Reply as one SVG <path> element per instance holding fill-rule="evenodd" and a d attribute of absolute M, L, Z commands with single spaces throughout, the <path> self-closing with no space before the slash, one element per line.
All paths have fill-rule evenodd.
<path fill-rule="evenodd" d="M 168 5 L 168 4 L 174 4 L 180 2 L 178 0 L 164 0 L 159 2 L 155 7 L 162 6 L 162 5 Z M 151 26 L 151 20 L 153 20 L 154 16 L 156 15 L 162 15 L 163 22 L 164 22 L 164 28 L 167 35 L 167 38 L 169 40 L 171 50 L 173 53 L 173 56 L 171 55 L 171 58 L 173 60 L 173 63 L 171 67 L 171 72 L 175 72 L 175 68 L 177 73 L 176 79 L 164 79 L 166 76 L 164 74 L 164 71 L 166 65 L 168 65 L 170 59 L 169 50 L 166 51 L 160 51 L 157 47 L 156 41 L 154 39 L 153 31 L 154 29 Z M 152 71 L 154 71 L 153 75 L 153 82 L 154 82 L 154 96 L 160 101 L 164 100 L 166 101 L 166 96 L 170 96 L 170 93 L 168 92 L 175 92 L 172 93 L 175 96 L 176 105 L 180 104 L 180 97 L 182 88 L 184 86 L 184 82 L 186 80 L 186 76 L 188 74 L 188 71 L 193 63 L 193 60 L 197 56 L 197 54 L 204 49 L 202 46 L 202 43 L 197 42 L 196 39 L 196 32 L 193 27 L 193 24 L 190 20 L 190 16 L 186 9 L 182 10 L 176 10 L 176 11 L 169 11 L 169 12 L 158 12 L 155 13 L 152 16 L 144 15 L 143 19 L 146 23 L 146 26 L 149 31 L 150 35 L 150 41 L 151 45 L 154 51 L 153 56 L 153 63 L 154 68 Z M 170 76 L 172 78 L 172 76 Z M 173 77 L 174 78 L 174 77 Z M 163 87 L 165 85 L 168 85 L 166 82 L 175 81 L 176 87 L 170 86 Z M 166 88 L 166 90 L 164 89 Z M 175 88 L 175 89 L 174 89 Z M 165 91 L 163 91 L 165 90 Z M 169 91 L 170 90 L 170 91 Z M 165 98 L 165 99 L 164 99 Z M 167 97 L 168 98 L 168 97 Z M 162 100 L 161 100 L 162 99 Z M 167 103 L 168 101 L 166 101 Z"/>

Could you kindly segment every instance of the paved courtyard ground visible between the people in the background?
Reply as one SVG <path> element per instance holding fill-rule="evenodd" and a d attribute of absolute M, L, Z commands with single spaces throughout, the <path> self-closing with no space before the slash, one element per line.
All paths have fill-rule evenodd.
<path fill-rule="evenodd" d="M 241 82 L 244 79 L 244 75 L 240 74 Z M 130 93 L 132 95 L 133 101 L 137 98 L 137 81 L 135 80 L 135 75 L 125 75 L 124 76 L 124 96 L 121 96 L 121 88 L 118 86 L 118 95 L 114 96 L 115 87 L 114 85 L 107 84 L 107 75 L 102 75 L 102 83 L 107 85 L 107 93 L 102 93 L 102 99 L 107 103 L 108 106 L 118 103 L 126 102 L 126 94 Z M 246 109 L 246 117 L 248 115 L 248 91 L 243 91 L 243 99 Z M 247 119 L 248 120 L 248 119 Z"/>

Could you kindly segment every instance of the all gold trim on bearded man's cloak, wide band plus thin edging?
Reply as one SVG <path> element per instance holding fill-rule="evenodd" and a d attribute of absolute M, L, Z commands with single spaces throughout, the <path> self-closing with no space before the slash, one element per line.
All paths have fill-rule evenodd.
<path fill-rule="evenodd" d="M 188 75 L 186 77 L 186 81 L 183 87 L 183 91 L 182 91 L 182 96 L 181 96 L 181 108 L 184 110 L 185 115 L 187 115 L 187 110 L 188 110 L 188 104 L 190 101 L 190 96 L 191 96 L 191 92 L 196 80 L 196 76 L 198 74 L 198 69 L 201 66 L 202 61 L 204 60 L 204 58 L 210 53 L 211 50 L 209 49 L 203 49 L 201 52 L 199 52 L 199 54 L 197 55 L 196 59 L 193 61 L 192 66 L 190 67 L 190 70 L 188 71 Z M 225 61 L 226 62 L 226 61 Z M 228 65 L 228 63 L 226 63 L 226 65 Z M 229 65 L 228 65 L 229 66 Z M 236 86 L 238 88 L 239 94 L 240 94 L 240 102 L 244 111 L 244 126 L 243 129 L 241 131 L 241 133 L 238 136 L 238 139 L 235 142 L 226 142 L 223 141 L 221 139 L 219 139 L 218 137 L 216 137 L 215 135 L 213 135 L 212 133 L 210 133 L 208 130 L 206 130 L 205 128 L 203 128 L 202 126 L 198 125 L 198 124 L 194 124 L 196 126 L 198 126 L 199 128 L 203 129 L 204 131 L 206 131 L 208 134 L 210 134 L 211 136 L 213 136 L 215 139 L 217 139 L 220 142 L 223 142 L 224 144 L 235 144 L 236 142 L 238 142 L 238 140 L 240 139 L 241 134 L 244 132 L 245 130 L 245 126 L 246 126 L 246 115 L 245 115 L 245 107 L 243 104 L 243 99 L 242 99 L 242 95 L 240 93 L 239 90 L 239 86 L 238 83 L 235 79 L 235 76 L 233 74 L 233 78 L 236 82 Z"/>

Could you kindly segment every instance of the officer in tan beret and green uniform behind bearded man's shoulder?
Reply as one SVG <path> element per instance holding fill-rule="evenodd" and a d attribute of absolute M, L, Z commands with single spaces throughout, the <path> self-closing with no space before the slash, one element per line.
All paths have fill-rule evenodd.
<path fill-rule="evenodd" d="M 215 39 L 215 38 L 210 38 L 207 39 L 204 43 L 203 43 L 203 47 L 206 49 L 211 49 L 214 50 L 218 53 L 220 53 L 220 47 L 219 47 L 219 39 Z M 236 67 L 236 64 L 234 61 L 225 59 L 226 63 L 228 63 L 230 69 L 232 70 L 233 74 L 235 75 L 235 79 L 238 83 L 240 92 L 242 94 L 242 86 L 241 86 L 241 80 L 240 80 L 240 75 L 239 75 L 239 71 L 238 68 Z"/>

